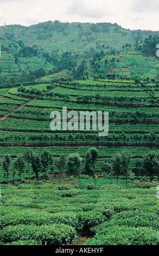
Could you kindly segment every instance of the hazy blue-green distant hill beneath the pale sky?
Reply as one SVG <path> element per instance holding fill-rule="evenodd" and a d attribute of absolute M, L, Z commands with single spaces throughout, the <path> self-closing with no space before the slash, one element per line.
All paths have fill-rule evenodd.
<path fill-rule="evenodd" d="M 152 36 L 155 47 L 158 35 L 159 31 L 131 31 L 117 23 L 56 20 L 29 27 L 1 26 L 1 83 L 115 73 L 152 78 L 157 75 L 158 60 L 154 52 L 143 51 L 143 44 Z"/>

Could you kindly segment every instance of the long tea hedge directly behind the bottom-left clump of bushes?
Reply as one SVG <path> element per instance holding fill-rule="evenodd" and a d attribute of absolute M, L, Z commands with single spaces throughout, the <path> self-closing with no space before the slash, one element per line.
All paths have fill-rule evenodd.
<path fill-rule="evenodd" d="M 88 210 L 88 209 L 86 209 Z M 90 232 L 90 228 L 94 225 L 101 224 L 107 220 L 109 212 L 103 209 L 102 211 L 80 211 L 80 212 L 57 212 L 51 214 L 35 209 L 25 209 L 21 211 L 10 212 L 0 216 L 0 228 L 6 228 L 10 225 L 50 225 L 50 224 L 65 224 L 69 225 L 78 233 Z"/>

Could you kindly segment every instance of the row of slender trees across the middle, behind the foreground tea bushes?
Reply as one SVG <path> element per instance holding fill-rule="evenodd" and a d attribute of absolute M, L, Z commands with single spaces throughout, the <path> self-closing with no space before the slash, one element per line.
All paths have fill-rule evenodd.
<path fill-rule="evenodd" d="M 39 173 L 42 172 L 44 179 L 47 181 L 48 173 L 53 175 L 55 170 L 58 169 L 60 174 L 60 183 L 62 174 L 67 172 L 69 175 L 73 175 L 74 178 L 78 176 L 79 181 L 81 178 L 81 173 L 85 172 L 94 179 L 94 188 L 96 188 L 96 163 L 99 158 L 99 151 L 92 147 L 87 150 L 85 157 L 81 157 L 78 153 L 73 154 L 62 154 L 57 160 L 54 161 L 52 154 L 50 154 L 48 149 L 44 149 L 39 155 L 34 152 L 33 149 L 26 149 L 24 154 L 20 154 L 16 157 L 14 161 L 14 168 L 17 170 L 20 176 L 20 181 L 22 180 L 22 173 L 27 166 L 28 178 L 30 182 L 30 167 L 36 176 L 37 182 L 39 180 Z M 108 175 L 111 179 L 116 176 L 117 182 L 120 175 L 126 176 L 126 187 L 128 176 L 133 176 L 131 170 L 131 152 L 128 150 L 123 150 L 121 153 L 116 154 L 111 157 L 110 160 L 101 162 L 100 172 L 102 174 Z M 7 183 L 9 182 L 9 166 L 10 166 L 10 155 L 5 154 L 1 159 L 1 164 L 7 175 Z M 150 176 L 150 181 L 153 180 L 153 176 L 157 173 L 159 176 L 159 154 L 155 151 L 150 151 L 145 154 L 142 161 L 143 168 L 145 172 Z M 15 175 L 15 172 L 14 172 Z M 81 185 L 81 181 L 80 181 Z M 123 179 L 124 187 L 124 179 Z"/>

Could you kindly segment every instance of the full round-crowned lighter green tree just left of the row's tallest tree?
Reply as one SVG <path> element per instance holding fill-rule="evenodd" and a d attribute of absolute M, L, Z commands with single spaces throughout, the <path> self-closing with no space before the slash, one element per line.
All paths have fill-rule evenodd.
<path fill-rule="evenodd" d="M 80 176 L 81 176 L 81 164 L 82 164 L 82 159 L 79 156 L 79 154 L 71 154 L 68 156 L 67 158 L 67 162 L 66 162 L 66 170 L 74 175 L 74 179 L 75 176 L 79 177 L 79 181 L 80 181 Z M 81 181 L 80 181 L 80 186 L 81 186 Z"/>

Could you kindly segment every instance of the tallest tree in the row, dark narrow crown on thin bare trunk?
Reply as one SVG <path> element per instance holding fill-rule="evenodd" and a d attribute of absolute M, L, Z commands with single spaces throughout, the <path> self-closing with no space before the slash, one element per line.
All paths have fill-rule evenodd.
<path fill-rule="evenodd" d="M 98 159 L 99 153 L 96 148 L 90 148 L 85 156 L 85 169 L 86 173 L 94 178 L 94 188 L 96 189 L 96 171 L 95 164 Z"/>

